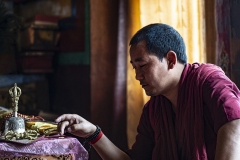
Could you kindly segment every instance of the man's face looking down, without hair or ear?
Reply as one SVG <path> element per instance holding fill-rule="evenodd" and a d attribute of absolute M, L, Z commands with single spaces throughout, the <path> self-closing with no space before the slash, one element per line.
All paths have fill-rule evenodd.
<path fill-rule="evenodd" d="M 130 63 L 136 73 L 142 88 L 148 96 L 164 95 L 170 88 L 168 79 L 168 64 L 164 57 L 162 61 L 157 56 L 149 54 L 145 41 L 130 48 Z"/>

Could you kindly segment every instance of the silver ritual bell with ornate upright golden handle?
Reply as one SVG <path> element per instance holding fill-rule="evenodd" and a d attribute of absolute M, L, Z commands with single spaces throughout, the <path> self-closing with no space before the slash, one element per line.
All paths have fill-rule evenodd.
<path fill-rule="evenodd" d="M 13 107 L 13 116 L 6 119 L 5 129 L 3 135 L 6 135 L 7 132 L 12 131 L 16 134 L 25 132 L 25 122 L 24 119 L 17 116 L 18 112 L 18 100 L 21 95 L 21 89 L 17 87 L 15 83 L 13 87 L 9 89 L 9 94 L 12 97 L 12 107 Z"/>

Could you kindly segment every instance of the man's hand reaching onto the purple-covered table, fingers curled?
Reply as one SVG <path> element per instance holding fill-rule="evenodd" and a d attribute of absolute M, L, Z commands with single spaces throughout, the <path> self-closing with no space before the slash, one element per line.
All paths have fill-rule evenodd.
<path fill-rule="evenodd" d="M 56 120 L 61 135 L 69 132 L 78 137 L 87 138 L 96 131 L 96 126 L 77 114 L 63 114 Z"/>

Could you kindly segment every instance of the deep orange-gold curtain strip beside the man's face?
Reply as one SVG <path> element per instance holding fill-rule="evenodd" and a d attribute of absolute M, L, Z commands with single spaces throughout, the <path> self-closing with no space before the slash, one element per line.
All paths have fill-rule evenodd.
<path fill-rule="evenodd" d="M 129 22 L 128 22 L 128 39 L 141 28 L 140 25 L 140 0 L 129 1 Z M 129 50 L 129 49 L 128 49 Z M 127 66 L 127 136 L 129 147 L 135 141 L 136 127 L 144 105 L 144 92 L 139 82 L 135 80 L 135 72 L 129 63 L 128 56 Z"/>

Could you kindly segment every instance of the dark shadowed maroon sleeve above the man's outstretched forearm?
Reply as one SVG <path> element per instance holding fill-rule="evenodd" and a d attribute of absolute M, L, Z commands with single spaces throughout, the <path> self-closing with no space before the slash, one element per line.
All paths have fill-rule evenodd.
<path fill-rule="evenodd" d="M 136 141 L 126 153 L 134 160 L 152 159 L 154 133 L 150 124 L 148 103 L 145 105 L 137 128 Z"/>

